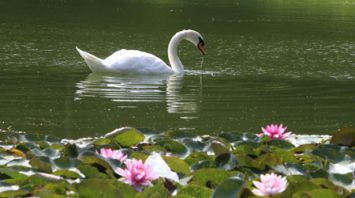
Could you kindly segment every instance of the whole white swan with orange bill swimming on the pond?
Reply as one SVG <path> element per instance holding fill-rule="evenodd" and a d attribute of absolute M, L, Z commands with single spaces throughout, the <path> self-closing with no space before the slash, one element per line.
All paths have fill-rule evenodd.
<path fill-rule="evenodd" d="M 141 73 L 141 74 L 183 74 L 184 65 L 181 63 L 177 47 L 182 40 L 188 40 L 205 54 L 204 41 L 200 33 L 194 30 L 177 32 L 170 40 L 168 57 L 171 67 L 163 60 L 146 52 L 138 50 L 119 50 L 106 59 L 100 59 L 76 48 L 92 72 L 99 73 Z"/>

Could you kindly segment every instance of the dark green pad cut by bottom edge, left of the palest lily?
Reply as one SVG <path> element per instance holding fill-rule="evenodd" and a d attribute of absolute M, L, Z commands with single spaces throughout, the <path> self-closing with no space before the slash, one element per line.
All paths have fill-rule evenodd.
<path fill-rule="evenodd" d="M 239 198 L 244 189 L 244 181 L 238 177 L 223 181 L 213 192 L 211 198 Z"/>

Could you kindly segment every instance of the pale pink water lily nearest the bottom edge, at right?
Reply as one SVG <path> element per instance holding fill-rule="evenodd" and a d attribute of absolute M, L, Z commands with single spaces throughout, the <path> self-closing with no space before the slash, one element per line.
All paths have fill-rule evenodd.
<path fill-rule="evenodd" d="M 281 177 L 274 173 L 260 175 L 260 182 L 253 182 L 254 188 L 252 192 L 257 196 L 269 196 L 281 193 L 287 188 L 286 177 Z"/>

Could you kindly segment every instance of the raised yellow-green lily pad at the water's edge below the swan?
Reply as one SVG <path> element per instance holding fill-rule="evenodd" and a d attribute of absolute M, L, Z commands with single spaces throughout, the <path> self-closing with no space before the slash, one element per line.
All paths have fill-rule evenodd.
<path fill-rule="evenodd" d="M 112 138 L 113 142 L 123 147 L 131 147 L 144 140 L 144 135 L 140 131 L 129 127 L 110 133 L 105 137 Z"/>

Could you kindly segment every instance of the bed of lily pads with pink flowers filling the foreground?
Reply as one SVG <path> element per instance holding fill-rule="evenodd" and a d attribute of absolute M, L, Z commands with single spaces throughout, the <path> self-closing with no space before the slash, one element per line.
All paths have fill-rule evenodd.
<path fill-rule="evenodd" d="M 298 145 L 282 125 L 184 138 L 1 132 L 0 197 L 354 197 L 354 134 Z"/>

